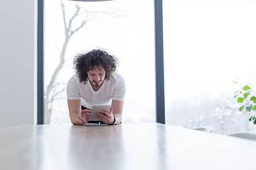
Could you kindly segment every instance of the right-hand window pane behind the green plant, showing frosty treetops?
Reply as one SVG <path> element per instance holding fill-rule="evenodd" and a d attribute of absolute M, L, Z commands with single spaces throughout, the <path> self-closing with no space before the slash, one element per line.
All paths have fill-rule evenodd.
<path fill-rule="evenodd" d="M 245 84 L 256 88 L 256 2 L 163 4 L 166 124 L 212 125 L 220 134 L 255 129 L 233 96 Z"/>

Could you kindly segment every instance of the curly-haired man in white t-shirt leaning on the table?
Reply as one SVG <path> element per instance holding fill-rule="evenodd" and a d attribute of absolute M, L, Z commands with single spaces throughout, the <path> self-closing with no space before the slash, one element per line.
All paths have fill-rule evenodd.
<path fill-rule="evenodd" d="M 67 86 L 68 109 L 74 125 L 90 123 L 90 109 L 93 104 L 111 104 L 111 111 L 97 113 L 97 118 L 108 125 L 122 121 L 125 82 L 117 74 L 117 58 L 104 50 L 92 50 L 75 56 L 76 74 Z"/>

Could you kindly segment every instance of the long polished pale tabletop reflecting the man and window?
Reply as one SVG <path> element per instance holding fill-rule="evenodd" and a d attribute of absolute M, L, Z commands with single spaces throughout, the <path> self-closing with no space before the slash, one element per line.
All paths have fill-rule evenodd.
<path fill-rule="evenodd" d="M 255 169 L 256 142 L 159 123 L 0 129 L 0 169 Z"/>

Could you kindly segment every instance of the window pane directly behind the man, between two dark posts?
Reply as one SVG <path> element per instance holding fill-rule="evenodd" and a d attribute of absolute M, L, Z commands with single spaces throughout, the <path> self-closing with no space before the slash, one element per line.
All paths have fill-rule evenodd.
<path fill-rule="evenodd" d="M 118 72 L 127 86 L 123 122 L 155 122 L 154 1 L 76 4 L 81 6 L 81 14 L 75 16 L 73 30 L 79 28 L 83 21 L 86 22 L 66 41 L 65 62 L 63 66 L 60 65 L 60 72 L 55 77 L 65 42 L 63 12 L 60 1 L 45 1 L 46 124 L 70 123 L 65 88 L 68 79 L 75 73 L 73 57 L 97 47 L 120 60 Z M 68 25 L 77 10 L 75 2 L 63 1 L 62 8 Z M 48 90 L 51 79 L 55 81 L 52 89 Z"/>

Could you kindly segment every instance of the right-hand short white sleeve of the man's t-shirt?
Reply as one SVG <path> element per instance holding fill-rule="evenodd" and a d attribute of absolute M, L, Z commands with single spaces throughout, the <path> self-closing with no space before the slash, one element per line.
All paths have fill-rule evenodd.
<path fill-rule="evenodd" d="M 117 85 L 114 87 L 113 100 L 115 101 L 124 101 L 124 96 L 126 92 L 125 81 L 122 77 L 120 77 Z"/>

